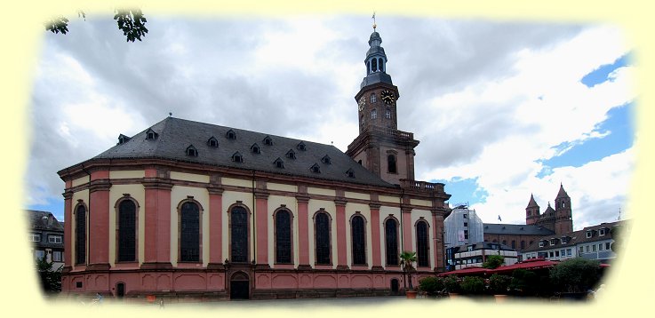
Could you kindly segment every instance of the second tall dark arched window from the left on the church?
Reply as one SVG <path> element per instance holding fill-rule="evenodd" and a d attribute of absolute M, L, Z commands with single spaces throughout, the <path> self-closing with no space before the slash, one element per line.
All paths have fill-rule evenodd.
<path fill-rule="evenodd" d="M 117 243 L 118 261 L 133 262 L 136 260 L 137 206 L 132 200 L 124 200 L 118 204 Z"/>

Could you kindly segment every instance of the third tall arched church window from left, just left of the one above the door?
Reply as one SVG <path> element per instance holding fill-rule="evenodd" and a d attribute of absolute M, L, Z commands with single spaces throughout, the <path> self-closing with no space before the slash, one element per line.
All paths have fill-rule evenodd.
<path fill-rule="evenodd" d="M 200 261 L 200 208 L 193 202 L 180 208 L 180 261 Z"/>

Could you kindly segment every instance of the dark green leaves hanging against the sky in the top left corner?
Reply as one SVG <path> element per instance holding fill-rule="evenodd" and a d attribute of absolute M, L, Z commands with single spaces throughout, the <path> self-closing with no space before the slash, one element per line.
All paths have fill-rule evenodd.
<path fill-rule="evenodd" d="M 146 36 L 148 33 L 146 22 L 148 21 L 140 9 L 116 9 L 114 12 L 116 12 L 114 20 L 116 20 L 118 29 L 123 31 L 128 42 L 141 41 L 141 37 Z M 77 16 L 86 20 L 86 13 L 83 11 L 78 11 Z M 68 33 L 68 21 L 68 18 L 61 15 L 53 17 L 44 23 L 45 29 L 55 34 L 65 35 Z"/>

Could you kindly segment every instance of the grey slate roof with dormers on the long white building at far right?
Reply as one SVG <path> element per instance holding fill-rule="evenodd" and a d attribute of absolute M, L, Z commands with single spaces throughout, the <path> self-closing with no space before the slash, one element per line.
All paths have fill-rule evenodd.
<path fill-rule="evenodd" d="M 611 222 L 611 223 L 601 223 L 599 225 L 595 225 L 592 227 L 585 227 L 581 230 L 578 231 L 573 231 L 569 233 L 564 233 L 560 235 L 545 235 L 543 237 L 539 237 L 539 239 L 535 242 L 533 242 L 531 245 L 529 245 L 523 252 L 528 252 L 528 251 L 535 251 L 535 250 L 554 250 L 558 249 L 560 247 L 571 247 L 576 244 L 583 244 L 587 242 L 597 242 L 597 241 L 605 241 L 605 240 L 611 240 L 614 239 L 612 237 L 611 229 L 613 227 L 620 227 L 621 226 L 621 221 L 616 221 L 616 222 Z M 598 230 L 601 228 L 606 229 L 605 235 L 599 235 Z M 591 237 L 587 237 L 587 231 L 591 231 L 592 235 Z M 563 236 L 566 236 L 569 238 L 568 242 L 562 243 L 561 238 Z M 550 244 L 550 239 L 555 239 L 555 244 L 551 245 Z M 548 242 L 544 244 L 543 247 L 539 247 L 539 241 L 542 240 L 547 240 Z"/>

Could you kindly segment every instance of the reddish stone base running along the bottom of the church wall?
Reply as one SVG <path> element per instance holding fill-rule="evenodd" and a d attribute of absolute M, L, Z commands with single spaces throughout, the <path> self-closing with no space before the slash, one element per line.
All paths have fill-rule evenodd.
<path fill-rule="evenodd" d="M 412 273 L 414 286 L 418 286 L 420 278 L 434 274 Z M 61 297 L 86 298 L 100 293 L 106 298 L 128 302 L 371 297 L 400 294 L 403 279 L 403 273 L 398 270 L 133 266 L 62 273 Z"/>

